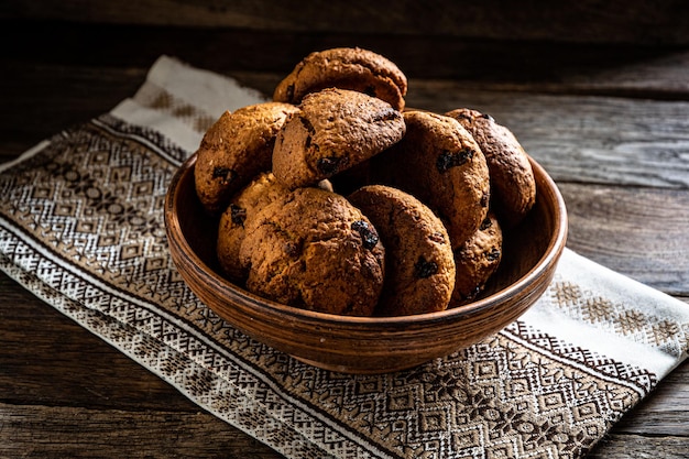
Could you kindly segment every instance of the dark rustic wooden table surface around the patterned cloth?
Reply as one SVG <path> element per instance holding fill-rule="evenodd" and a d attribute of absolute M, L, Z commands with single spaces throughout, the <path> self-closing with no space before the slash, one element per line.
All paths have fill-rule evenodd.
<path fill-rule="evenodd" d="M 41 9 L 48 1 L 25 2 L 33 9 L 8 3 L 0 9 L 2 162 L 108 111 L 135 91 L 161 54 L 270 94 L 307 52 L 359 45 L 407 73 L 409 106 L 473 106 L 511 127 L 560 186 L 570 215 L 569 248 L 688 302 L 689 40 L 686 29 L 663 34 L 665 26 L 686 25 L 672 11 L 652 18 L 655 25 L 641 34 L 634 26 L 643 25 L 646 13 L 637 9 L 637 23 L 594 43 L 591 29 L 579 40 L 558 41 L 564 35 L 557 33 L 575 24 L 557 30 L 542 18 L 534 30 L 524 17 L 516 17 L 522 34 L 512 31 L 521 40 L 507 40 L 497 26 L 486 29 L 488 35 L 494 32 L 490 40 L 478 40 L 481 20 L 490 18 L 473 10 L 475 30 L 434 37 L 427 33 L 433 28 L 422 26 L 430 21 L 426 17 L 416 32 L 395 34 L 385 23 L 385 33 L 376 33 L 365 21 L 354 30 L 352 20 L 335 32 L 314 33 L 294 14 L 286 26 L 263 18 L 252 28 L 248 17 L 210 4 L 179 7 L 183 15 L 198 13 L 196 22 L 182 24 L 178 15 L 155 9 L 172 8 L 164 1 L 138 2 L 127 11 L 96 2 L 102 8 L 84 12 L 83 22 L 66 21 L 79 2 L 56 10 Z M 254 19 L 261 18 L 256 11 Z M 436 35 L 449 30 L 440 22 Z M 647 40 L 639 44 L 639 36 Z M 630 152 L 632 160 L 615 162 Z M 591 456 L 683 458 L 688 425 L 686 362 Z M 0 274 L 0 458 L 6 457 L 280 456 Z"/>

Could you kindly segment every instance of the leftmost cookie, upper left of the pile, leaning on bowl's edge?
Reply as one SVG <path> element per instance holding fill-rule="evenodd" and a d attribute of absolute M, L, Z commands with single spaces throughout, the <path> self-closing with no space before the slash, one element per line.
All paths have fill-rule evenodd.
<path fill-rule="evenodd" d="M 237 190 L 269 171 L 275 135 L 297 108 L 265 102 L 226 111 L 208 129 L 194 167 L 196 194 L 207 212 L 225 210 Z"/>

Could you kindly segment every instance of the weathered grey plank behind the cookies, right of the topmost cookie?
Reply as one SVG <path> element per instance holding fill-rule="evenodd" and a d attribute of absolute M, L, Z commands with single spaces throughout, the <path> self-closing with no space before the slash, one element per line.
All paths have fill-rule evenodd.
<path fill-rule="evenodd" d="M 689 102 L 414 83 L 409 107 L 439 112 L 469 107 L 490 113 L 557 182 L 689 187 Z M 438 94 L 446 97 L 438 99 Z"/>

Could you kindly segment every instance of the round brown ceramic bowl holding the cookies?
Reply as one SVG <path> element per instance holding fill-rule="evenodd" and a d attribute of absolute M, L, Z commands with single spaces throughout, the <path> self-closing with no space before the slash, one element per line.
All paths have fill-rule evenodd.
<path fill-rule="evenodd" d="M 248 336 L 313 365 L 349 373 L 412 368 L 468 347 L 526 312 L 550 283 L 567 238 L 560 193 L 532 160 L 534 209 L 505 231 L 503 261 L 474 303 L 440 313 L 387 318 L 346 317 L 274 303 L 228 282 L 215 256 L 217 222 L 194 188 L 193 156 L 174 176 L 165 203 L 173 261 L 189 288 Z"/>

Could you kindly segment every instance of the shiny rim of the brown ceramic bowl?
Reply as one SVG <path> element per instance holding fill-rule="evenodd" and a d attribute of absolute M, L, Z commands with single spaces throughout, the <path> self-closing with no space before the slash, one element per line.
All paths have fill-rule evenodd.
<path fill-rule="evenodd" d="M 164 211 L 164 220 L 166 230 L 168 231 L 168 238 L 172 237 L 172 234 L 169 234 L 169 228 L 173 222 L 177 223 L 176 228 L 181 228 L 178 223 L 178 215 L 174 211 L 176 207 L 176 201 L 178 200 L 177 194 L 179 190 L 179 183 L 182 182 L 182 178 L 185 174 L 193 173 L 193 167 L 196 163 L 196 159 L 197 154 L 195 153 L 187 160 L 185 160 L 175 172 L 173 179 L 168 186 L 165 196 Z M 555 181 L 548 175 L 545 168 L 540 166 L 540 164 L 538 164 L 533 157 L 528 156 L 528 160 L 531 162 L 532 168 L 538 172 L 538 175 L 543 178 L 544 184 L 553 192 L 553 195 L 555 197 L 556 208 L 554 209 L 554 215 L 556 231 L 554 232 L 554 234 L 550 236 L 547 249 L 545 250 L 538 262 L 534 266 L 532 266 L 532 269 L 526 274 L 524 274 L 522 277 L 520 277 L 516 282 L 508 285 L 507 287 L 502 288 L 475 302 L 440 312 L 407 316 L 370 317 L 344 316 L 302 309 L 296 306 L 288 306 L 267 298 L 263 298 L 260 295 L 253 294 L 225 278 L 222 275 L 212 270 L 206 262 L 204 262 L 194 250 L 192 250 L 192 247 L 189 245 L 186 237 L 182 231 L 179 231 L 179 237 L 175 239 L 186 256 L 192 259 L 192 261 L 197 264 L 197 266 L 203 267 L 204 273 L 206 275 L 209 275 L 214 280 L 214 282 L 226 287 L 223 288 L 223 292 L 231 295 L 232 298 L 230 299 L 234 302 L 241 302 L 247 306 L 259 308 L 270 314 L 278 313 L 282 316 L 292 316 L 302 320 L 307 319 L 326 327 L 328 325 L 337 325 L 338 327 L 349 325 L 357 328 L 380 327 L 391 329 L 402 327 L 424 327 L 426 325 L 445 323 L 448 321 L 448 319 L 451 320 L 452 318 L 460 319 L 467 314 L 475 314 L 483 309 L 490 308 L 495 304 L 502 303 L 504 299 L 514 296 L 518 292 L 528 291 L 528 287 L 537 284 L 538 278 L 548 271 L 548 266 L 551 263 L 555 263 L 557 259 L 559 259 L 561 252 L 565 250 L 568 232 L 568 216 L 565 200 L 560 194 L 559 188 L 555 184 Z"/>

